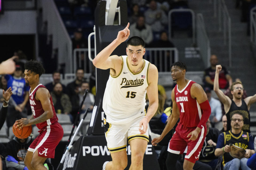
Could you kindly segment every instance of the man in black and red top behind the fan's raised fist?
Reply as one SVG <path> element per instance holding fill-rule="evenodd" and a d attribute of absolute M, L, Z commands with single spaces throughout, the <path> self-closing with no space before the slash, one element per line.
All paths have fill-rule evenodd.
<path fill-rule="evenodd" d="M 204 70 L 203 82 L 205 87 L 209 87 L 213 90 L 213 82 L 215 77 L 216 65 L 218 64 L 218 57 L 211 55 L 210 57 L 211 67 Z M 222 71 L 219 73 L 219 87 L 220 89 L 227 89 L 232 84 L 232 78 L 229 75 L 227 69 L 222 66 Z"/>

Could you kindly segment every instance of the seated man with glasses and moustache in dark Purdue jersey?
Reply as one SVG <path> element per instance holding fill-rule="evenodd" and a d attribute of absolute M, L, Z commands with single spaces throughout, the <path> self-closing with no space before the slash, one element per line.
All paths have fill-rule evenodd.
<path fill-rule="evenodd" d="M 243 114 L 236 111 L 231 117 L 231 130 L 219 135 L 215 156 L 223 156 L 223 170 L 250 170 L 246 163 L 255 153 L 253 135 L 242 131 Z"/>

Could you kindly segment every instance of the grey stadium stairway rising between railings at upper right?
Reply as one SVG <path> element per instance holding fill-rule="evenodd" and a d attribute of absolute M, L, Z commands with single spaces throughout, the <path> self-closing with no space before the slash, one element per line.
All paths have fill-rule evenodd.
<path fill-rule="evenodd" d="M 256 65 L 250 49 L 250 36 L 247 36 L 247 23 L 240 22 L 241 9 L 235 8 L 235 1 L 225 0 L 231 18 L 232 67 L 229 67 L 228 46 L 224 45 L 223 32 L 218 31 L 218 18 L 213 15 L 211 1 L 189 1 L 189 7 L 195 11 L 195 14 L 203 14 L 207 35 L 210 39 L 211 53 L 216 54 L 219 63 L 228 68 L 233 81 L 235 78 L 241 79 L 248 96 L 252 96 L 256 93 L 254 88 L 256 79 L 253 78 L 256 73 Z M 250 111 L 256 116 L 255 103 L 251 106 Z"/>

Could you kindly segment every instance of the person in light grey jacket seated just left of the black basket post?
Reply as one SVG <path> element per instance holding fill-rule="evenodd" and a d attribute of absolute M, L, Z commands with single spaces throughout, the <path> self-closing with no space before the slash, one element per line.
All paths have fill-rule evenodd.
<path fill-rule="evenodd" d="M 83 96 L 84 96 L 85 90 L 88 90 L 88 93 L 87 93 L 87 95 L 86 95 L 86 97 L 84 99 L 84 103 L 82 105 L 82 111 L 85 111 L 88 108 L 90 110 L 92 110 L 93 109 L 93 105 L 94 105 L 94 101 L 95 101 L 94 95 L 89 92 L 89 90 L 90 90 L 89 83 L 86 82 L 86 81 L 83 81 L 82 84 L 81 84 L 81 92 L 78 94 L 78 96 L 79 96 L 79 103 L 81 103 L 83 101 Z"/>

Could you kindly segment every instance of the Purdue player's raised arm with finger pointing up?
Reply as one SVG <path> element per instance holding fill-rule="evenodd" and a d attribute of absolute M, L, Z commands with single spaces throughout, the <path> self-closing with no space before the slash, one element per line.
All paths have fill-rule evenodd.
<path fill-rule="evenodd" d="M 130 23 L 127 26 L 118 32 L 117 37 L 110 43 L 107 47 L 105 47 L 92 61 L 93 65 L 96 68 L 100 69 L 108 69 L 113 68 L 115 69 L 115 62 L 113 60 L 116 59 L 117 56 L 109 57 L 111 53 L 116 49 L 118 45 L 128 39 L 130 35 L 129 30 Z"/>

